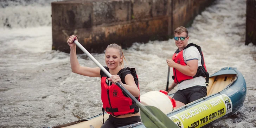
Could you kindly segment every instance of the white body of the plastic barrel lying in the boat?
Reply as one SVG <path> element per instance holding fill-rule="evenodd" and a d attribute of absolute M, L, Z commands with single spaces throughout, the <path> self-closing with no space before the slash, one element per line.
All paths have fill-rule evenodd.
<path fill-rule="evenodd" d="M 168 96 L 160 91 L 149 91 L 140 96 L 140 102 L 143 105 L 151 105 L 160 109 L 165 114 L 172 111 L 172 102 Z"/>

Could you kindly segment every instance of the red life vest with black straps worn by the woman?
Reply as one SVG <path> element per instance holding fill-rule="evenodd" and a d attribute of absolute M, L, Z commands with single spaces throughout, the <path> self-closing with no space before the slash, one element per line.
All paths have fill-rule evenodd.
<path fill-rule="evenodd" d="M 108 71 L 108 67 L 104 67 Z M 101 70 L 101 72 L 103 72 Z M 117 75 L 122 79 L 122 75 L 124 72 L 132 73 L 134 77 L 134 81 L 139 88 L 139 80 L 134 68 L 123 68 L 121 69 Z M 107 78 L 109 78 L 105 73 L 101 77 L 101 100 L 103 103 L 103 114 L 104 110 L 113 116 L 125 115 L 128 113 L 138 113 L 139 107 L 129 98 L 124 92 L 114 83 L 110 82 Z M 122 83 L 126 84 L 124 78 Z M 140 89 L 140 88 L 139 88 Z M 140 97 L 135 97 L 140 102 Z"/>

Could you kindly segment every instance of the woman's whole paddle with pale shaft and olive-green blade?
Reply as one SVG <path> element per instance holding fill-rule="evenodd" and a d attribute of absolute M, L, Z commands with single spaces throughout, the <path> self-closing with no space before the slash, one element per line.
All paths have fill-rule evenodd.
<path fill-rule="evenodd" d="M 77 41 L 74 41 L 76 45 L 88 56 L 90 57 L 95 64 L 97 64 L 104 73 L 108 75 L 110 78 L 112 75 Z M 141 110 L 141 120 L 145 127 L 147 128 L 178 128 L 178 126 L 169 119 L 168 116 L 166 116 L 161 110 L 154 106 L 149 105 L 142 105 L 139 101 L 136 100 L 136 98 L 130 94 L 129 91 L 127 91 L 119 82 L 115 83 L 119 88 L 123 90 L 123 92 L 129 96 L 133 102 L 136 103 L 136 105 Z"/>

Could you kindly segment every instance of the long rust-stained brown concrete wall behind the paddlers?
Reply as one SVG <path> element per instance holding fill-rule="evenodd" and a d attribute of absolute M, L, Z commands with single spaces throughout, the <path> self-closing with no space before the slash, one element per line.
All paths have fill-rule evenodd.
<path fill-rule="evenodd" d="M 52 49 L 70 53 L 72 35 L 91 53 L 111 43 L 123 48 L 134 42 L 167 40 L 178 26 L 215 0 L 67 0 L 52 2 Z M 83 53 L 77 48 L 77 53 Z"/>

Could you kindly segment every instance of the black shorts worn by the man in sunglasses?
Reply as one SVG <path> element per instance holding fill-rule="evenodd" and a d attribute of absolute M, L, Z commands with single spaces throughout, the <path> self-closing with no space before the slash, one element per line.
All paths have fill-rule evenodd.
<path fill-rule="evenodd" d="M 175 101 L 182 102 L 184 104 L 191 103 L 200 98 L 203 98 L 207 95 L 206 87 L 204 86 L 193 86 L 183 90 L 178 90 L 175 92 L 174 98 Z"/>

